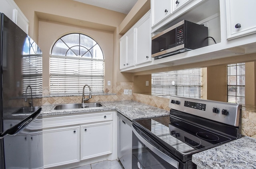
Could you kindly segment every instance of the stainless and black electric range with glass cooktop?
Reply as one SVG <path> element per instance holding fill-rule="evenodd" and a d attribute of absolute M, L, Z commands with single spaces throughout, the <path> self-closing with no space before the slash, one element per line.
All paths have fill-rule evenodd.
<path fill-rule="evenodd" d="M 241 137 L 240 104 L 170 96 L 169 107 L 132 121 L 132 169 L 196 169 L 194 153 Z"/>

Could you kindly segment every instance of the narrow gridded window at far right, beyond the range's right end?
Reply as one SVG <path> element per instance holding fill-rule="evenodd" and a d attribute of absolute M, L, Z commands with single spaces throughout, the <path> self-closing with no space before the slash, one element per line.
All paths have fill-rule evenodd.
<path fill-rule="evenodd" d="M 245 63 L 227 65 L 227 101 L 245 104 Z"/>

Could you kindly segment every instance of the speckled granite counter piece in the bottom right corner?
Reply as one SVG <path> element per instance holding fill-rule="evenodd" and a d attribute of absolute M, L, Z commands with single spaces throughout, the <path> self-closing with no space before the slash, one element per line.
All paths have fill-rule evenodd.
<path fill-rule="evenodd" d="M 255 169 L 256 139 L 244 136 L 196 153 L 192 162 L 203 169 Z"/>

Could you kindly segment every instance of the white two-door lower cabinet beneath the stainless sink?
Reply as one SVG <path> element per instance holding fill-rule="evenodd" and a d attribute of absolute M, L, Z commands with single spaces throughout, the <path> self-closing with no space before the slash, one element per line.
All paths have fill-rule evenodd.
<path fill-rule="evenodd" d="M 113 112 L 46 116 L 43 126 L 44 168 L 112 153 Z"/>

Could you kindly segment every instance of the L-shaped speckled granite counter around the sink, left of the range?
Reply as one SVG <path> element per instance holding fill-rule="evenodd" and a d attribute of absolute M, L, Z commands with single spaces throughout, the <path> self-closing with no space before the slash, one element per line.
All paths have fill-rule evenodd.
<path fill-rule="evenodd" d="M 154 106 L 149 106 L 136 101 L 113 101 L 113 102 L 101 102 L 105 107 L 103 108 L 93 108 L 93 109 L 76 109 L 76 110 L 54 110 L 51 109 L 54 105 L 42 106 L 42 116 L 52 116 L 61 114 L 75 114 L 75 113 L 86 113 L 86 112 L 98 112 L 106 110 L 116 110 L 126 116 L 128 119 L 138 119 L 138 118 L 151 118 L 158 116 L 166 116 L 170 114 L 166 110 L 156 108 Z"/>

